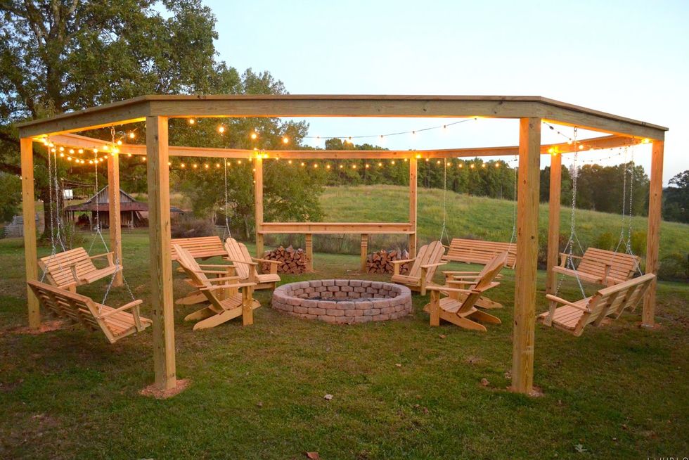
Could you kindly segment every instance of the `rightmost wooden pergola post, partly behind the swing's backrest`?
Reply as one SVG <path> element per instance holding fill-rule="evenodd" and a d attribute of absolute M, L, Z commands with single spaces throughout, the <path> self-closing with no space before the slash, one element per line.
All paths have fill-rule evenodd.
<path fill-rule="evenodd" d="M 658 250 L 660 247 L 660 222 L 662 222 L 663 195 L 663 141 L 654 141 L 651 158 L 651 177 L 648 190 L 648 234 L 646 240 L 646 273 L 658 274 L 660 267 Z M 655 287 L 657 280 L 651 283 L 643 300 L 641 324 L 644 327 L 655 326 Z"/>

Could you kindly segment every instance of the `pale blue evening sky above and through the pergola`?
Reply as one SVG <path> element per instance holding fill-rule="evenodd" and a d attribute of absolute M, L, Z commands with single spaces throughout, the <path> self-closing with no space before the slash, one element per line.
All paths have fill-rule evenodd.
<path fill-rule="evenodd" d="M 217 16 L 219 58 L 240 72 L 268 70 L 290 94 L 544 96 L 669 127 L 664 184 L 689 169 L 687 0 L 204 3 Z M 516 120 L 470 120 L 382 143 L 380 134 L 453 120 L 307 121 L 311 136 L 371 135 L 357 143 L 400 150 L 518 143 Z M 592 135 L 600 134 L 579 132 Z M 542 143 L 563 140 L 543 127 Z M 648 173 L 650 146 L 581 153 L 577 161 L 624 158 Z"/>

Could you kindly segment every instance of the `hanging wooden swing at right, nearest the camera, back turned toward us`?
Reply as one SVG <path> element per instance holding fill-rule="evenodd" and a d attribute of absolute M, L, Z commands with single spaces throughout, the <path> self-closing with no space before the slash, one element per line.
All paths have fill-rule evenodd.
<path fill-rule="evenodd" d="M 539 315 L 546 326 L 553 326 L 579 337 L 586 325 L 599 326 L 605 317 L 619 317 L 625 309 L 635 309 L 653 283 L 655 275 L 650 273 L 598 290 L 591 297 L 569 302 L 555 295 L 546 295 L 550 300 L 548 312 Z M 562 307 L 558 307 L 561 304 Z"/>

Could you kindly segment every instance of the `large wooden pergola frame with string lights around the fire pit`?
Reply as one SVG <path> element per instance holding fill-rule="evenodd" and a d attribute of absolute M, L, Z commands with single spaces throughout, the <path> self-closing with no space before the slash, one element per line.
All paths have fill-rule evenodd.
<path fill-rule="evenodd" d="M 419 151 L 257 151 L 223 148 L 169 146 L 169 118 L 202 117 L 487 117 L 520 120 L 519 145 L 511 147 L 458 148 Z M 25 122 L 21 137 L 22 193 L 27 280 L 38 278 L 36 224 L 34 217 L 34 141 L 49 136 L 53 143 L 75 148 L 101 148 L 102 140 L 73 134 L 87 129 L 146 122 L 146 145 L 125 144 L 120 150 L 147 155 L 148 199 L 150 203 L 150 277 L 153 307 L 155 383 L 159 388 L 176 386 L 172 260 L 170 257 L 169 158 L 253 159 L 255 165 L 257 253 L 263 250 L 264 234 L 307 235 L 309 260 L 311 235 L 323 233 L 408 234 L 410 253 L 416 252 L 416 166 L 419 158 L 457 158 L 519 155 L 517 189 L 517 269 L 515 271 L 515 314 L 513 332 L 512 388 L 530 393 L 534 376 L 534 326 L 536 320 L 536 268 L 539 221 L 539 169 L 541 155 L 550 155 L 550 204 L 548 218 L 548 281 L 555 290 L 550 268 L 558 264 L 560 234 L 560 179 L 562 154 L 580 145 L 586 148 L 614 148 L 634 143 L 652 143 L 648 245 L 646 271 L 657 273 L 661 222 L 663 144 L 667 128 L 599 112 L 539 96 L 340 96 L 340 95 L 241 95 L 241 96 L 141 96 L 73 113 Z M 562 124 L 607 133 L 607 136 L 577 143 L 541 145 L 541 122 Z M 404 223 L 311 223 L 264 222 L 263 160 L 266 158 L 399 158 L 409 163 L 409 213 Z M 120 189 L 118 155 L 108 155 L 109 190 Z M 120 215 L 120 201 L 109 200 L 110 215 Z M 111 250 L 122 260 L 120 223 L 110 225 Z M 126 264 L 125 264 L 126 266 Z M 122 283 L 116 279 L 115 284 Z M 31 328 L 39 328 L 41 315 L 37 298 L 27 292 Z M 654 325 L 655 285 L 645 298 L 643 325 Z"/>

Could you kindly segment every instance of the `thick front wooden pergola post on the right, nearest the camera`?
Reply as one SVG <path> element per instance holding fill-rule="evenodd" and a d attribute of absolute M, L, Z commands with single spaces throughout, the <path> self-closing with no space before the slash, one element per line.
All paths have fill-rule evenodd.
<path fill-rule="evenodd" d="M 520 119 L 512 389 L 525 394 L 532 392 L 534 384 L 540 151 L 541 120 Z"/>

